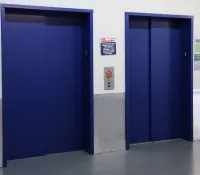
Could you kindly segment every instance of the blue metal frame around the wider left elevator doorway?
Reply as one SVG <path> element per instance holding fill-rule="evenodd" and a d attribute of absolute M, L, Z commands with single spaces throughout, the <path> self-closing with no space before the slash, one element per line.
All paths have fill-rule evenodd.
<path fill-rule="evenodd" d="M 73 14 L 87 14 L 88 20 L 89 20 L 89 71 L 90 71 L 90 93 L 89 93 L 89 101 L 90 101 L 90 154 L 94 154 L 94 125 L 93 125 L 93 10 L 90 9 L 72 9 L 72 8 L 58 8 L 58 7 L 44 7 L 44 6 L 29 6 L 29 5 L 15 5 L 15 4 L 0 4 L 1 8 L 1 35 L 2 35 L 2 58 L 3 58 L 3 52 L 4 52 L 4 39 L 6 39 L 5 36 L 5 30 L 4 26 L 6 25 L 5 21 L 5 15 L 6 15 L 6 9 L 21 9 L 21 10 L 38 10 L 38 11 L 52 11 L 52 12 L 68 12 Z M 2 97 L 3 101 L 3 97 Z M 2 114 L 2 137 L 3 137 L 3 167 L 7 166 L 7 133 L 6 133 L 6 123 L 4 116 Z M 0 157 L 1 158 L 1 157 Z"/>

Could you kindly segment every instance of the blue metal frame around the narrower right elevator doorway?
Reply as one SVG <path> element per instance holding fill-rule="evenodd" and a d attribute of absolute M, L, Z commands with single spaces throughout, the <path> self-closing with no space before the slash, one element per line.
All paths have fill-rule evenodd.
<path fill-rule="evenodd" d="M 152 13 L 134 13 L 134 12 L 125 12 L 125 138 L 126 138 L 126 149 L 129 149 L 129 98 L 130 98 L 130 92 L 129 92 L 129 53 L 130 53 L 130 42 L 129 42 L 129 21 L 131 16 L 136 16 L 136 17 L 156 17 L 156 18 L 174 18 L 174 19 L 187 19 L 190 20 L 191 24 L 191 33 L 190 33 L 190 49 L 191 49 L 191 54 L 190 54 L 190 141 L 193 141 L 193 16 L 184 16 L 184 15 L 167 15 L 167 14 L 152 14 Z"/>

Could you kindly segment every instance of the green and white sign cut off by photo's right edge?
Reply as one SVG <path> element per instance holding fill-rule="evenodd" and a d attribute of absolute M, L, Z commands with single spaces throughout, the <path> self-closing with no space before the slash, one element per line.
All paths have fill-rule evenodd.
<path fill-rule="evenodd" d="M 200 70 L 200 39 L 195 39 L 194 70 Z"/>

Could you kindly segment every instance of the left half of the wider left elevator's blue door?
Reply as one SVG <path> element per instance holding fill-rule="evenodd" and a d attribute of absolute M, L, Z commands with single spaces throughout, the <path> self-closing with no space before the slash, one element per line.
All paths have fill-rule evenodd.
<path fill-rule="evenodd" d="M 3 115 L 8 159 L 45 154 L 44 18 L 6 16 Z"/>

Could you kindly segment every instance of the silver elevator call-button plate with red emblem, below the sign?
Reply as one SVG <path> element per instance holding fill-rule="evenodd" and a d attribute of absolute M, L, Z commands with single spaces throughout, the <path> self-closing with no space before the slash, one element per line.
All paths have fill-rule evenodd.
<path fill-rule="evenodd" d="M 104 67 L 104 90 L 114 90 L 114 67 Z"/>

